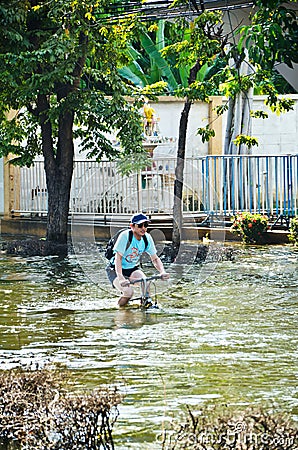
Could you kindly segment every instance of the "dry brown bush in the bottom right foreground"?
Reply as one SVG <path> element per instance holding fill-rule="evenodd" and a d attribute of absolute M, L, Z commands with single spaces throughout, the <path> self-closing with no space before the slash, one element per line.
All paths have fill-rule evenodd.
<path fill-rule="evenodd" d="M 248 409 L 231 413 L 188 408 L 184 423 L 163 436 L 163 450 L 294 450 L 298 428 L 285 414 Z"/>

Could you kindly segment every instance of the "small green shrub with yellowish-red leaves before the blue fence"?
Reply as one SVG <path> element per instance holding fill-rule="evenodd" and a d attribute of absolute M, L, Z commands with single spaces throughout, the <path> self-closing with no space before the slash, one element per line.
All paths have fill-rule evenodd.
<path fill-rule="evenodd" d="M 233 217 L 231 232 L 246 244 L 260 244 L 268 229 L 268 217 L 262 214 L 242 212 Z"/>

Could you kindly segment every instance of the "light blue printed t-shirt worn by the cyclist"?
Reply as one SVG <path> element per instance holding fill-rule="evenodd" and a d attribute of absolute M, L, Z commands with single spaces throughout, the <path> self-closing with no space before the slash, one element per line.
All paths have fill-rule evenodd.
<path fill-rule="evenodd" d="M 153 256 L 156 254 L 156 248 L 153 239 L 148 233 L 146 233 L 146 238 L 148 239 L 146 253 L 148 253 L 148 255 L 150 256 Z M 129 229 L 120 233 L 116 241 L 116 244 L 114 245 L 114 254 L 116 252 L 119 252 L 121 253 L 121 255 L 123 255 L 122 256 L 123 269 L 132 269 L 133 267 L 137 266 L 140 263 L 140 258 L 142 256 L 142 253 L 144 253 L 146 247 L 143 237 L 139 241 L 138 239 L 135 238 L 135 236 L 133 236 L 130 246 L 126 250 L 128 239 L 129 239 Z M 113 258 L 111 259 L 111 264 L 112 265 L 115 264 L 115 256 L 113 256 Z"/>

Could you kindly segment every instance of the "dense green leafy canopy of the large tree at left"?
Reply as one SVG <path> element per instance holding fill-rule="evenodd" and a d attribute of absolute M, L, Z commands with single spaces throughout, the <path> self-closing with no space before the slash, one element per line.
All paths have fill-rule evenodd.
<path fill-rule="evenodd" d="M 126 96 L 136 93 L 123 83 L 118 69 L 128 62 L 127 42 L 133 19 L 102 24 L 100 0 L 1 1 L 0 114 L 1 152 L 30 164 L 42 152 L 42 134 L 50 129 L 53 158 L 59 157 L 61 115 L 73 111 L 74 137 L 90 156 L 127 158 L 143 153 L 139 104 Z M 18 111 L 5 121 L 8 110 Z M 107 138 L 117 133 L 124 152 Z M 134 138 L 131 139 L 131 136 Z M 22 142 L 26 140 L 26 146 Z"/>

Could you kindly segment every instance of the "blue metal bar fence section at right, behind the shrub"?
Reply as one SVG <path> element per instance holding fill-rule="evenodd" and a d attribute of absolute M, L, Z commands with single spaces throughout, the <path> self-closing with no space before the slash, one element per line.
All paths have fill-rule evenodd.
<path fill-rule="evenodd" d="M 204 165 L 208 213 L 297 215 L 298 155 L 207 156 Z"/>

